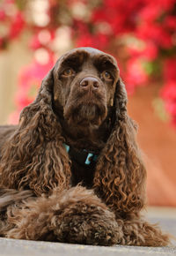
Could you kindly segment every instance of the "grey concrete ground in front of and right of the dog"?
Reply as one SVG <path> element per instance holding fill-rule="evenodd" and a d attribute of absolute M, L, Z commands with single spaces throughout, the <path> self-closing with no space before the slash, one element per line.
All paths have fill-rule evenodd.
<path fill-rule="evenodd" d="M 163 230 L 176 236 L 176 208 L 150 208 L 146 214 L 150 222 L 159 222 Z M 169 247 L 136 247 L 121 246 L 113 247 L 91 246 L 91 245 L 70 245 L 62 243 L 35 242 L 25 240 L 14 240 L 0 238 L 1 256 L 122 256 L 122 255 L 154 255 L 169 256 L 176 255 L 176 241 Z"/>

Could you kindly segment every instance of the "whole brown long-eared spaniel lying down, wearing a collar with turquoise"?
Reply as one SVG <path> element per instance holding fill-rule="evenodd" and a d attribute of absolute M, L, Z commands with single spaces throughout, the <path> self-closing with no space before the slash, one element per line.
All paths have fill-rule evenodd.
<path fill-rule="evenodd" d="M 88 245 L 168 244 L 143 221 L 146 171 L 113 56 L 73 49 L 18 126 L 2 128 L 0 234 Z"/>

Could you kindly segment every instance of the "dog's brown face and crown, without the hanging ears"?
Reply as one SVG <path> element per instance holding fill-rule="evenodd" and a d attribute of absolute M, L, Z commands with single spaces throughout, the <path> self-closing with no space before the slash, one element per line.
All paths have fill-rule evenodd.
<path fill-rule="evenodd" d="M 53 76 L 53 106 L 69 124 L 99 126 L 105 120 L 119 79 L 113 56 L 98 49 L 73 49 L 59 58 Z"/>

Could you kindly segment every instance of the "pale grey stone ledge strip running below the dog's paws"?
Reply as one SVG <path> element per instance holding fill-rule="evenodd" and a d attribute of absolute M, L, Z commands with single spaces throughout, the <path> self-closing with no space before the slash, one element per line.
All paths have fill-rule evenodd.
<path fill-rule="evenodd" d="M 176 247 L 136 247 L 115 245 L 113 247 L 70 245 L 62 243 L 25 241 L 0 238 L 1 256 L 140 256 L 176 255 Z"/>

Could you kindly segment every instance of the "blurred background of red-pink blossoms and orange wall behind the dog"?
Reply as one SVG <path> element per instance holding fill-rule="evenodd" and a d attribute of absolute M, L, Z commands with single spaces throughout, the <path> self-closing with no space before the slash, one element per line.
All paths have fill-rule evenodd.
<path fill-rule="evenodd" d="M 176 207 L 176 1 L 1 0 L 0 124 L 17 124 L 65 51 L 116 57 L 148 170 L 148 201 Z"/>

